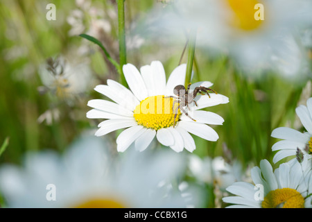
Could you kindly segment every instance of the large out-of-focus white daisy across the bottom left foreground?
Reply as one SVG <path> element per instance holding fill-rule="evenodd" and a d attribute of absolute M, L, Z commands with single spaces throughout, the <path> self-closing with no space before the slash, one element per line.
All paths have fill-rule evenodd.
<path fill-rule="evenodd" d="M 107 152 L 109 146 L 101 138 L 84 137 L 62 157 L 45 151 L 28 154 L 22 168 L 3 165 L 6 207 L 186 207 L 180 192 L 158 186 L 181 175 L 181 156 L 130 152 L 117 159 Z"/>

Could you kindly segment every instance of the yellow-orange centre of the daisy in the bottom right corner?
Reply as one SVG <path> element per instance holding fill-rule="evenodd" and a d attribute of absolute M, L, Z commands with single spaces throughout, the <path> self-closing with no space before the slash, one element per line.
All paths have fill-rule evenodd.
<path fill-rule="evenodd" d="M 266 195 L 262 201 L 262 207 L 304 208 L 304 197 L 295 189 L 275 189 Z"/>

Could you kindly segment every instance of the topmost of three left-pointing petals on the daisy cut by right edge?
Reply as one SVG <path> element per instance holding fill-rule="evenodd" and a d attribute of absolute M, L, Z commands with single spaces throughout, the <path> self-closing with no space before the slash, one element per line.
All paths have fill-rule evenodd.
<path fill-rule="evenodd" d="M 271 137 L 275 137 L 277 139 L 287 139 L 304 144 L 308 143 L 310 140 L 308 135 L 288 127 L 279 127 L 274 129 L 272 131 Z"/>

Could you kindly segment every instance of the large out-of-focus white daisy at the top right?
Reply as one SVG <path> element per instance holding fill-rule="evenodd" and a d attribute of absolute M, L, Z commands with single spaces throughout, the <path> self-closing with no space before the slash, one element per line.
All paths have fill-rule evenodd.
<path fill-rule="evenodd" d="M 302 74 L 304 64 L 289 61 L 287 52 L 303 53 L 280 36 L 297 35 L 297 29 L 311 26 L 311 10 L 309 0 L 180 0 L 165 10 L 154 10 L 148 28 L 157 27 L 156 39 L 163 31 L 162 35 L 171 35 L 175 41 L 183 37 L 184 42 L 185 32 L 197 31 L 196 46 L 209 49 L 209 55 L 228 53 L 249 73 L 261 68 L 292 76 Z M 292 69 L 276 68 L 281 60 Z"/>

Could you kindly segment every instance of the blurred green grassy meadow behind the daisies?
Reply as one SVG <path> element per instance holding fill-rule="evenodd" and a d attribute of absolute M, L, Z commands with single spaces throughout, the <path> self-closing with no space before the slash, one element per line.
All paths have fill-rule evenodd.
<path fill-rule="evenodd" d="M 56 6 L 56 21 L 46 19 L 48 3 Z M 92 1 L 92 4 L 116 11 L 116 2 L 113 0 Z M 148 11 L 155 4 L 160 3 L 152 0 L 125 1 L 126 36 L 132 34 L 132 22 L 148 17 Z M 98 84 L 105 84 L 107 78 L 119 79 L 118 73 L 107 63 L 98 46 L 78 35 L 68 34 L 71 26 L 67 17 L 76 8 L 75 1 L 0 1 L 0 144 L 3 144 L 0 164 L 21 164 L 26 151 L 51 148 L 62 153 L 81 133 L 95 129 L 99 123 L 99 120 L 85 117 L 90 110 L 87 101 L 104 98 L 94 92 L 95 85 L 71 104 L 53 92 L 41 94 L 38 91 L 38 87 L 43 85 L 40 66 L 44 65 L 46 59 L 70 55 L 71 49 L 84 45 L 92 49 L 85 59 L 90 60 L 92 78 Z M 88 17 L 83 22 L 86 27 L 90 26 Z M 110 43 L 103 44 L 118 60 L 118 51 L 110 47 L 118 45 L 117 20 L 111 20 L 110 24 Z M 168 78 L 177 67 L 183 48 L 184 44 L 174 40 L 170 50 L 167 46 L 146 40 L 141 47 L 127 51 L 127 62 L 141 67 L 153 60 L 160 60 Z M 182 62 L 187 62 L 187 55 L 184 55 Z M 299 103 L 305 104 L 311 96 L 306 81 L 295 83 L 272 72 L 259 77 L 261 70 L 243 74 L 226 55 L 212 57 L 209 51 L 199 48 L 196 48 L 193 70 L 193 83 L 209 80 L 214 83 L 216 92 L 229 97 L 229 103 L 207 108 L 225 119 L 223 126 L 212 126 L 220 138 L 217 142 L 207 142 L 194 137 L 194 154 L 200 157 L 232 156 L 245 167 L 250 163 L 259 165 L 262 159 L 272 163 L 274 153 L 271 148 L 277 142 L 277 139 L 270 137 L 272 130 L 279 126 L 303 130 L 296 123 L 295 108 Z M 39 123 L 37 119 L 40 115 L 52 108 L 60 110 L 60 119 L 51 125 Z M 106 137 L 116 148 L 116 133 Z"/>

